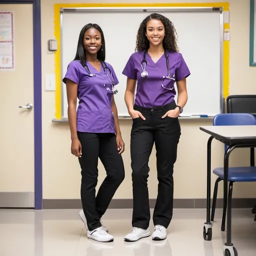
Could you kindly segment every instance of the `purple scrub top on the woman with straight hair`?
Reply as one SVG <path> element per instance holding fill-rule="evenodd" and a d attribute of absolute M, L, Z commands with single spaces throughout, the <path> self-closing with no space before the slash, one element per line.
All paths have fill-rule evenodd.
<path fill-rule="evenodd" d="M 111 70 L 111 74 L 115 84 L 119 81 L 115 75 L 113 67 L 104 62 Z M 113 98 L 112 85 L 107 78 L 102 65 L 98 72 L 88 61 L 86 64 L 93 76 L 89 76 L 86 69 L 79 60 L 71 61 L 67 66 L 66 78 L 77 83 L 77 98 L 79 104 L 77 108 L 76 129 L 81 132 L 92 133 L 115 133 L 114 131 L 114 115 L 111 110 L 111 101 Z M 107 69 L 107 74 L 112 81 L 112 77 Z"/>

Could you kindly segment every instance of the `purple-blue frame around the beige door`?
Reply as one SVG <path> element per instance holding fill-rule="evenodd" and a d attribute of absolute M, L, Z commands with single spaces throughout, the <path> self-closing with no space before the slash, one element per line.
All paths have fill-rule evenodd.
<path fill-rule="evenodd" d="M 42 209 L 42 77 L 40 0 L 0 0 L 0 4 L 33 4 L 34 209 Z"/>

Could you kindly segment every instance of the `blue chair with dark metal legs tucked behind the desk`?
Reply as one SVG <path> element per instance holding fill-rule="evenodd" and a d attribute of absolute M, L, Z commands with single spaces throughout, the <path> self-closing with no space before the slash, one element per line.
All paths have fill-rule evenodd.
<path fill-rule="evenodd" d="M 213 117 L 213 125 L 256 125 L 256 117 L 254 117 L 254 115 L 249 113 L 221 113 Z M 226 150 L 226 145 L 225 145 L 225 150 Z M 213 173 L 216 174 L 218 177 L 215 181 L 214 191 L 213 191 L 211 221 L 214 220 L 218 182 L 224 179 L 223 167 L 214 168 Z M 256 167 L 254 166 L 254 164 L 251 166 L 243 166 L 243 167 L 228 167 L 228 181 L 229 181 L 228 197 L 232 198 L 233 182 L 256 181 Z M 223 205 L 221 231 L 225 230 L 226 207 L 227 205 Z"/>

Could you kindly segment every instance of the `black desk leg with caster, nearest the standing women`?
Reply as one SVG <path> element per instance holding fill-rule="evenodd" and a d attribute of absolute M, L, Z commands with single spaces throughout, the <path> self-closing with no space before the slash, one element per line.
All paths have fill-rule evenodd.
<path fill-rule="evenodd" d="M 212 237 L 212 223 L 210 222 L 210 161 L 211 161 L 211 141 L 214 137 L 210 136 L 207 142 L 207 207 L 206 222 L 203 226 L 203 239 L 210 241 Z"/>

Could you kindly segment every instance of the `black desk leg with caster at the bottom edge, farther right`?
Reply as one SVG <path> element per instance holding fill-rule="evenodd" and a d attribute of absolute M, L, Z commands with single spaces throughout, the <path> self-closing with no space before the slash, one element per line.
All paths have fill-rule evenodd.
<path fill-rule="evenodd" d="M 235 145 L 231 145 L 227 148 L 224 154 L 224 208 L 223 208 L 223 222 L 222 225 L 225 225 L 225 217 L 226 217 L 226 243 L 223 247 L 224 256 L 237 256 L 237 251 L 231 242 L 231 211 L 232 211 L 232 204 L 231 204 L 231 197 L 227 198 L 227 191 L 228 191 L 228 158 L 231 151 L 235 148 Z M 225 205 L 227 204 L 227 216 L 225 211 Z M 221 230 L 222 230 L 221 226 Z"/>

